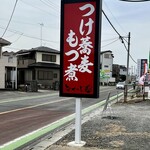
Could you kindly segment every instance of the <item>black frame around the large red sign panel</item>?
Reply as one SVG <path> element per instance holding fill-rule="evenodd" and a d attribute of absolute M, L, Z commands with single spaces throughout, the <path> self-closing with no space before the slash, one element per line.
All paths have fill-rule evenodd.
<path fill-rule="evenodd" d="M 94 75 L 93 75 L 93 93 L 85 94 L 85 93 L 72 93 L 72 92 L 64 92 L 64 34 L 65 34 L 65 5 L 67 4 L 76 4 L 76 3 L 84 3 L 84 2 L 95 2 L 95 35 L 94 35 Z M 101 40 L 101 0 L 61 0 L 61 33 L 60 33 L 60 96 L 65 97 L 84 97 L 84 98 L 98 98 L 99 97 L 99 70 L 100 70 L 100 40 Z M 87 79 L 88 80 L 88 79 Z"/>

